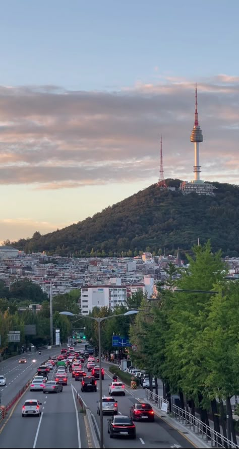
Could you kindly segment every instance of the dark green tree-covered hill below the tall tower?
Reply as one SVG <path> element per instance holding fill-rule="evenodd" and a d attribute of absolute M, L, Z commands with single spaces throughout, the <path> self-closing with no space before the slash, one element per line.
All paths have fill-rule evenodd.
<path fill-rule="evenodd" d="M 171 180 L 172 185 L 180 181 Z M 137 255 L 139 251 L 175 254 L 211 240 L 212 250 L 239 256 L 239 186 L 213 182 L 214 197 L 161 190 L 156 184 L 92 218 L 11 244 L 26 252 L 73 256 Z"/>

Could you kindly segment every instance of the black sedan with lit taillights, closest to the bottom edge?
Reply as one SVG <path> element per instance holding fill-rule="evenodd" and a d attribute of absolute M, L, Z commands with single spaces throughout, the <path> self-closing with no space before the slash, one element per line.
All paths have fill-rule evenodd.
<path fill-rule="evenodd" d="M 108 419 L 108 433 L 110 438 L 114 436 L 130 436 L 136 438 L 135 423 L 126 415 L 116 415 Z"/>

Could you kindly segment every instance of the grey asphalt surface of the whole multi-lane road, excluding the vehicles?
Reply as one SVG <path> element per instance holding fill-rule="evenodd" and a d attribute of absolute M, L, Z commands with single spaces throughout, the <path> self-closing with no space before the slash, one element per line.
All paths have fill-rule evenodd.
<path fill-rule="evenodd" d="M 77 349 L 81 349 L 79 345 Z M 19 364 L 19 357 L 6 360 L 0 364 L 0 374 L 7 377 L 7 386 L 2 387 L 2 404 L 7 404 L 24 386 L 24 384 L 36 373 L 36 368 L 49 355 L 58 355 L 59 349 L 42 351 L 42 354 L 27 353 L 26 364 Z M 33 359 L 36 362 L 33 362 Z M 108 384 L 112 380 L 107 367 L 108 364 L 102 362 L 105 369 L 104 380 L 102 380 L 103 395 L 108 395 Z M 86 369 L 86 363 L 84 365 Z M 54 376 L 55 370 L 49 373 L 49 380 Z M 89 373 L 87 373 L 89 374 Z M 99 382 L 97 381 L 97 384 Z M 95 416 L 98 427 L 100 418 L 97 415 L 97 392 L 80 391 L 81 382 L 75 381 L 72 374 L 68 372 L 68 386 L 63 387 L 63 393 L 56 395 L 43 394 L 42 392 L 30 392 L 29 389 L 21 397 L 14 410 L 9 412 L 4 420 L 4 425 L 0 427 L 0 447 L 12 448 L 40 448 L 40 447 L 91 447 L 91 442 L 86 428 L 87 423 L 84 415 L 79 413 L 79 406 L 76 404 L 76 391 L 79 392 L 86 405 Z M 129 415 L 132 404 L 145 397 L 143 389 L 126 389 L 126 396 L 115 397 L 118 401 L 118 413 Z M 22 405 L 26 399 L 39 399 L 42 403 L 41 417 L 29 416 L 22 418 Z M 103 416 L 104 427 L 104 447 L 185 447 L 191 448 L 194 445 L 186 439 L 180 432 L 170 427 L 158 417 L 155 422 L 136 422 L 136 439 L 122 441 L 120 438 L 110 439 L 107 433 L 107 420 L 109 416 Z M 175 446 L 176 445 L 176 446 Z"/>

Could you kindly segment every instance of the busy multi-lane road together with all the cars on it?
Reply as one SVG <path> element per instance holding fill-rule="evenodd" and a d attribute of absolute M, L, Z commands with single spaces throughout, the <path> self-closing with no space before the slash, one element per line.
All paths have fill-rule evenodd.
<path fill-rule="evenodd" d="M 100 428 L 98 360 L 84 351 L 83 345 L 78 345 L 77 350 L 70 349 L 42 351 L 41 355 L 35 355 L 35 362 L 27 354 L 24 364 L 19 363 L 19 357 L 1 363 L 0 374 L 6 378 L 6 385 L 1 388 L 2 405 L 25 382 L 29 379 L 31 382 L 8 414 L 4 426 L 0 426 L 0 447 L 40 448 L 46 442 L 52 448 L 92 447 L 76 395 L 81 396 Z M 173 444 L 194 447 L 179 432 L 171 432 L 154 413 L 144 401 L 143 388 L 131 390 L 120 378 L 113 380 L 108 367 L 109 363 L 102 362 L 105 448 L 125 444 L 132 448 Z"/>

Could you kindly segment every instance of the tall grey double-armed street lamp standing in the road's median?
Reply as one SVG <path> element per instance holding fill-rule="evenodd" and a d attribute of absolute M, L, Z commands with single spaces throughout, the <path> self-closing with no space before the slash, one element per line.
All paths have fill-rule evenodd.
<path fill-rule="evenodd" d="M 68 315 L 68 316 L 81 316 L 83 318 L 93 319 L 98 323 L 98 340 L 99 340 L 99 410 L 100 410 L 100 448 L 103 449 L 104 441 L 103 441 L 103 412 L 102 412 L 102 373 L 101 373 L 101 322 L 108 318 L 113 318 L 115 316 L 128 316 L 133 315 L 134 313 L 138 313 L 138 310 L 129 310 L 126 313 L 119 313 L 117 315 L 109 315 L 103 317 L 95 317 L 89 315 L 82 315 L 80 313 L 72 313 L 72 312 L 59 312 L 60 315 Z"/>

